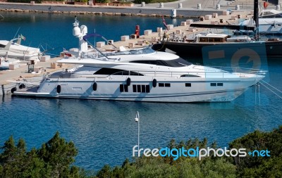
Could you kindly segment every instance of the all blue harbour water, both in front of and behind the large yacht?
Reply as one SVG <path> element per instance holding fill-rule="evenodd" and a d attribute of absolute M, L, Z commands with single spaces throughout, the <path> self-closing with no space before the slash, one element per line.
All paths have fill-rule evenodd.
<path fill-rule="evenodd" d="M 77 45 L 77 39 L 72 36 L 71 15 L 1 14 L 5 18 L 0 20 L 0 39 L 13 38 L 20 27 L 19 33 L 25 35 L 25 43 L 31 46 L 47 43 L 61 51 L 63 47 Z M 137 24 L 141 30 L 154 30 L 162 25 L 159 18 L 82 15 L 78 20 L 88 26 L 88 31 L 96 29 L 114 40 L 133 33 Z M 269 70 L 266 80 L 282 89 L 282 59 L 272 59 L 263 68 Z M 254 87 L 250 88 L 231 103 L 137 103 L 4 96 L 0 105 L 0 145 L 12 134 L 15 139 L 25 139 L 28 148 L 39 148 L 59 131 L 79 149 L 75 165 L 93 170 L 105 164 L 121 165 L 125 158 L 131 158 L 132 148 L 137 144 L 134 121 L 137 110 L 141 148 L 159 148 L 171 139 L 196 137 L 207 137 L 209 142 L 217 141 L 222 147 L 255 129 L 270 131 L 282 125 L 282 100 L 264 87 L 260 87 L 259 94 Z"/>

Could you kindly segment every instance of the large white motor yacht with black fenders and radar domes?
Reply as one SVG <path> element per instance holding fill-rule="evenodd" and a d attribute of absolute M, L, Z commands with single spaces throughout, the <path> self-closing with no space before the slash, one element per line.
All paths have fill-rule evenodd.
<path fill-rule="evenodd" d="M 17 82 L 21 87 L 14 87 L 13 95 L 176 103 L 233 101 L 264 78 L 259 70 L 227 72 L 193 65 L 150 47 L 88 53 L 87 37 L 92 34 L 86 35 L 87 27 L 79 28 L 77 21 L 74 25 L 80 51 L 57 62 L 80 67 L 55 72 L 39 84 Z"/>

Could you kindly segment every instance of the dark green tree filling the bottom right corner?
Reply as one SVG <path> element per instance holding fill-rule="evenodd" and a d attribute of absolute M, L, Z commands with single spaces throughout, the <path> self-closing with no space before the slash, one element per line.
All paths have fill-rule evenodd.
<path fill-rule="evenodd" d="M 238 177 L 282 177 L 282 126 L 272 132 L 255 131 L 229 144 L 230 148 L 246 148 L 249 151 L 270 151 L 268 156 L 235 157 Z"/>

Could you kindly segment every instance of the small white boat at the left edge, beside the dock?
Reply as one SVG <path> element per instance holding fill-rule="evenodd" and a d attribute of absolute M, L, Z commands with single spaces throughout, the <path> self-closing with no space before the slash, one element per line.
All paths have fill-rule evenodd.
<path fill-rule="evenodd" d="M 39 61 L 41 56 L 40 49 L 20 45 L 20 40 L 20 37 L 10 41 L 0 40 L 0 57 L 4 56 L 24 61 Z"/>

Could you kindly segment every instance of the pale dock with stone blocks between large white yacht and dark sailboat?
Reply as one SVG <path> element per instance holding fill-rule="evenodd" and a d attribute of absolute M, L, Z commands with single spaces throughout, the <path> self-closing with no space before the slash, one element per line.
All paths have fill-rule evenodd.
<path fill-rule="evenodd" d="M 223 11 L 228 13 L 228 11 Z M 128 34 L 123 37 L 121 37 L 121 41 L 114 42 L 114 45 L 119 47 L 119 46 L 124 46 L 127 49 L 132 49 L 132 48 L 138 48 L 142 46 L 146 46 L 149 44 L 155 44 L 159 40 L 161 40 L 164 36 L 164 32 L 166 34 L 182 34 L 185 35 L 186 37 L 194 37 L 195 34 L 200 33 L 200 32 L 217 32 L 221 33 L 223 30 L 217 30 L 217 29 L 207 29 L 207 28 L 201 28 L 201 27 L 190 27 L 190 23 L 197 23 L 197 24 L 220 24 L 220 25 L 238 25 L 238 23 L 241 20 L 245 20 L 248 18 L 252 18 L 252 12 L 250 11 L 247 13 L 246 11 L 235 11 L 232 12 L 231 14 L 226 14 L 226 15 L 218 15 L 217 13 L 213 13 L 210 15 L 205 15 L 201 16 L 202 21 L 196 21 L 193 22 L 191 19 L 186 19 L 182 18 L 183 22 L 181 22 L 180 26 L 173 27 L 173 25 L 167 24 L 168 30 L 166 30 L 166 27 L 157 27 L 157 29 L 148 29 L 145 30 L 144 32 L 140 32 L 139 38 L 133 39 L 130 38 L 133 34 Z M 158 32 L 159 31 L 159 32 Z M 99 42 L 98 42 L 99 43 Z M 99 46 L 99 45 L 97 45 Z M 109 49 L 112 48 L 111 45 L 105 45 L 102 46 L 102 49 Z"/>

